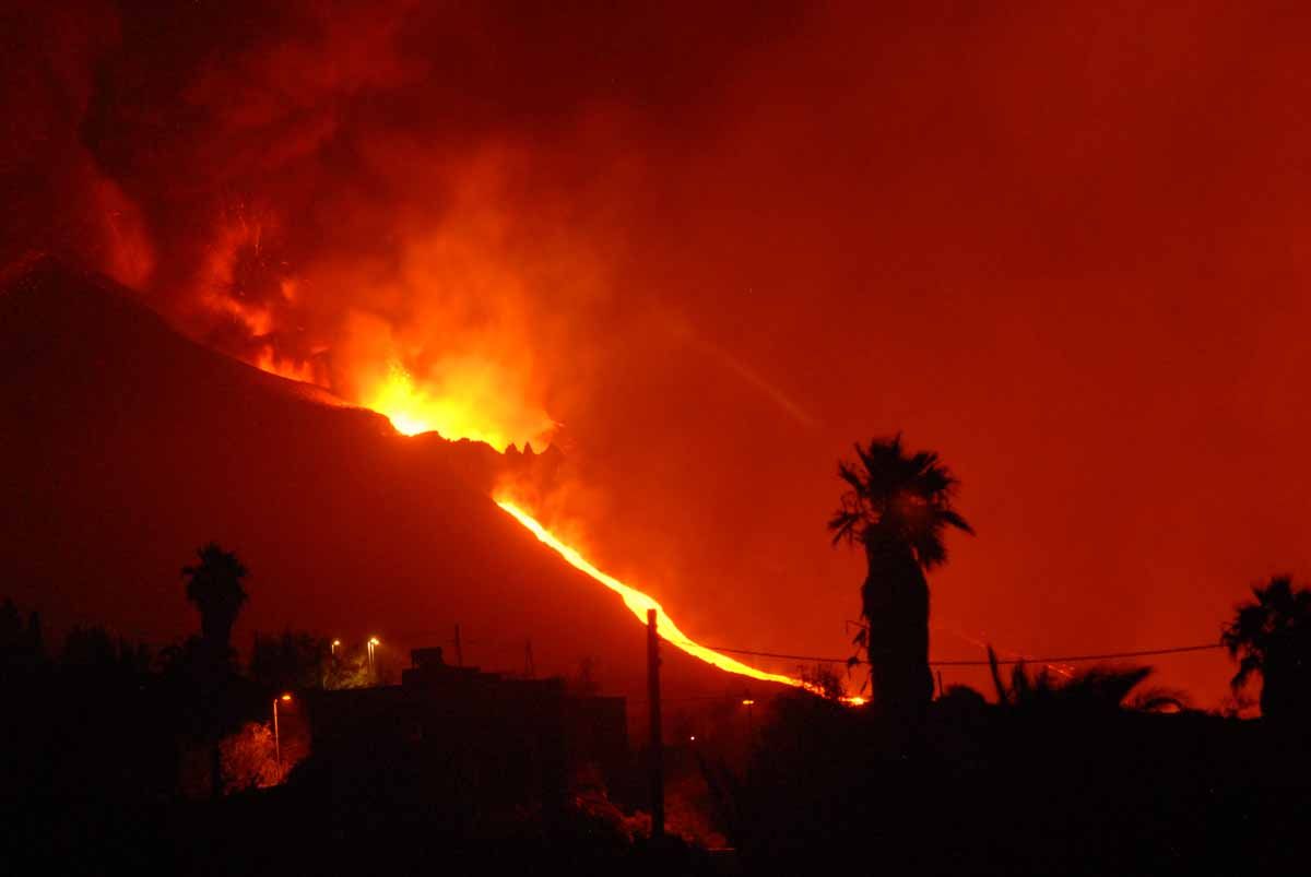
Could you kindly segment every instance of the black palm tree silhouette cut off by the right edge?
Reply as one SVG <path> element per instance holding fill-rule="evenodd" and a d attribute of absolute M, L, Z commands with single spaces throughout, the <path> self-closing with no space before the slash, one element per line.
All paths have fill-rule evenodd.
<path fill-rule="evenodd" d="M 1221 642 L 1239 658 L 1230 683 L 1239 691 L 1261 674 L 1261 714 L 1311 721 L 1311 590 L 1294 589 L 1287 575 L 1252 587 L 1255 602 L 1238 607 Z"/>

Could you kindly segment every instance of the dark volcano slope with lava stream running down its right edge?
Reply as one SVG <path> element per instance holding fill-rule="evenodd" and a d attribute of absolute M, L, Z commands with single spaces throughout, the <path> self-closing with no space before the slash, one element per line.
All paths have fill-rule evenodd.
<path fill-rule="evenodd" d="M 239 648 L 288 627 L 378 636 L 399 669 L 460 624 L 467 663 L 523 671 L 531 641 L 539 674 L 587 658 L 604 691 L 644 691 L 633 615 L 490 498 L 518 452 L 404 437 L 52 260 L 0 292 L 0 593 L 56 627 L 180 640 L 197 627 L 180 568 L 215 540 L 252 570 Z M 663 655 L 675 696 L 753 682 Z"/>

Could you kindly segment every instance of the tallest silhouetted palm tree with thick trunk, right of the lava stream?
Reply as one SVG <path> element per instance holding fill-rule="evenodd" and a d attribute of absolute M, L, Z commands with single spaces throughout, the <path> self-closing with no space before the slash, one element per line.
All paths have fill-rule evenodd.
<path fill-rule="evenodd" d="M 949 527 L 974 530 L 952 507 L 958 482 L 936 452 L 907 454 L 898 434 L 857 443 L 856 458 L 838 464 L 851 489 L 829 522 L 834 544 L 859 543 L 869 566 L 860 589 L 868 627 L 856 645 L 869 658 L 874 700 L 882 708 L 919 709 L 933 696 L 924 573 L 947 561 Z"/>

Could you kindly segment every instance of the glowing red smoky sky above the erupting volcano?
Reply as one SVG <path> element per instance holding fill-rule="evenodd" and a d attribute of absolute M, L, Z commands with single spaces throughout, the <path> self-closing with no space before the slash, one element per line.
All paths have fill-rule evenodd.
<path fill-rule="evenodd" d="M 895 430 L 978 531 L 937 658 L 1213 641 L 1311 577 L 1297 5 L 43 5 L 0 20 L 7 262 L 561 423 L 553 520 L 707 642 L 848 654 L 835 461 Z"/>

